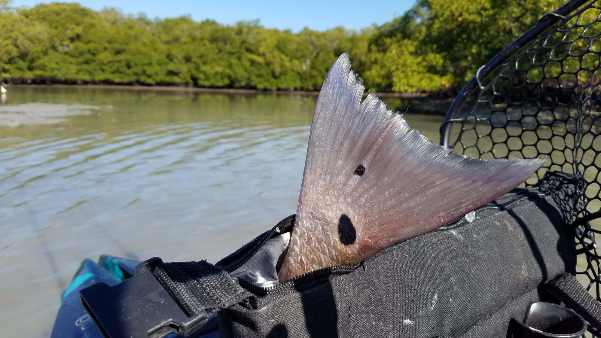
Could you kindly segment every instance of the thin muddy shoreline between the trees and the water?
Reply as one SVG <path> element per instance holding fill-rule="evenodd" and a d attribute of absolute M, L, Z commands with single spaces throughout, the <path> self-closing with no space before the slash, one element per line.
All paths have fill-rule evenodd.
<path fill-rule="evenodd" d="M 317 96 L 319 91 L 308 90 L 260 90 L 245 88 L 201 88 L 201 87 L 183 87 L 168 85 L 103 85 L 103 84 L 9 84 L 10 87 L 52 87 L 52 88 L 90 88 L 90 89 L 110 89 L 110 90 L 133 90 L 133 91 L 174 91 L 180 93 L 231 93 L 231 94 L 299 94 L 308 96 Z M 398 99 L 427 99 L 427 93 L 397 93 L 397 92 L 365 92 L 363 96 L 375 94 L 377 97 L 395 97 Z"/>

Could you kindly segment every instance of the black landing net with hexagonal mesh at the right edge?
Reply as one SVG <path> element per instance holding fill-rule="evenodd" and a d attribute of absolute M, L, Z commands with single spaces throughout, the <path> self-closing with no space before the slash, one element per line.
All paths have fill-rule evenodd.
<path fill-rule="evenodd" d="M 566 192 L 576 207 L 576 277 L 599 301 L 600 13 L 601 0 L 574 0 L 543 17 L 478 70 L 441 127 L 444 146 L 474 158 L 548 158 L 526 186 L 548 170 L 576 174 L 581 183 Z"/>

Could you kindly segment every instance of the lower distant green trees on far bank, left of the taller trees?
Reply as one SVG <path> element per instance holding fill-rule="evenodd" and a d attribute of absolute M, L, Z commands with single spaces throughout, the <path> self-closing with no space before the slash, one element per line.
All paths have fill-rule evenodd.
<path fill-rule="evenodd" d="M 0 70 L 13 82 L 318 90 L 353 38 L 342 28 L 293 34 L 53 2 L 0 11 Z"/>

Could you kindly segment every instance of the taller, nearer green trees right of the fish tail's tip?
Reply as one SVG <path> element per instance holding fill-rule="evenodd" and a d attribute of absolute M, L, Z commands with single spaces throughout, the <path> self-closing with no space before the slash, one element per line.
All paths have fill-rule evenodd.
<path fill-rule="evenodd" d="M 462 87 L 478 67 L 563 0 L 419 0 L 371 41 L 373 90 Z"/>

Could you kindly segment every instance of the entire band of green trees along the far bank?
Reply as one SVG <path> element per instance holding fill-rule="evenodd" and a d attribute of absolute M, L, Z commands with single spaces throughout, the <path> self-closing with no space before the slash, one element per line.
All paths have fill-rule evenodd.
<path fill-rule="evenodd" d="M 258 21 L 149 19 L 76 3 L 0 0 L 0 78 L 10 83 L 319 90 L 338 55 L 371 91 L 462 87 L 563 0 L 419 0 L 361 31 L 299 32 Z"/>

